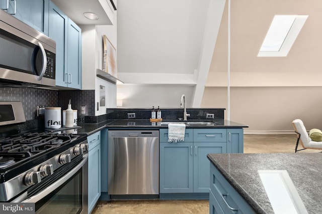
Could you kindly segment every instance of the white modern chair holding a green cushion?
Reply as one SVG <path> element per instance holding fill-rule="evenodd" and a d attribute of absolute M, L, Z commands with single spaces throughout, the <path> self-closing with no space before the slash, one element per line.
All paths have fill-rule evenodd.
<path fill-rule="evenodd" d="M 322 149 L 322 141 L 313 141 L 308 136 L 308 133 L 305 129 L 303 121 L 300 119 L 295 119 L 292 122 L 294 130 L 297 134 L 297 142 L 295 146 L 295 153 L 304 149 Z M 298 142 L 301 142 L 303 149 L 297 150 Z"/>

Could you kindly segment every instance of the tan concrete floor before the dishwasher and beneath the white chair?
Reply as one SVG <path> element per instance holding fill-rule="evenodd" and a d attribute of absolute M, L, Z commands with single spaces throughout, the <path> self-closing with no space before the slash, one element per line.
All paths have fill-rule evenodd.
<path fill-rule="evenodd" d="M 244 153 L 293 153 L 297 136 L 295 134 L 246 134 Z M 298 149 L 301 149 L 299 145 Z M 320 152 L 306 149 L 299 152 Z M 99 201 L 94 214 L 111 213 L 153 213 L 153 214 L 206 214 L 208 200 L 118 200 Z"/>

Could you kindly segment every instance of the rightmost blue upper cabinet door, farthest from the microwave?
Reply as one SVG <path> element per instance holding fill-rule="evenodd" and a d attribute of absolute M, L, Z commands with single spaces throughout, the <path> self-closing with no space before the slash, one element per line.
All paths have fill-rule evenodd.
<path fill-rule="evenodd" d="M 67 86 L 82 88 L 82 30 L 68 19 L 67 28 Z"/>

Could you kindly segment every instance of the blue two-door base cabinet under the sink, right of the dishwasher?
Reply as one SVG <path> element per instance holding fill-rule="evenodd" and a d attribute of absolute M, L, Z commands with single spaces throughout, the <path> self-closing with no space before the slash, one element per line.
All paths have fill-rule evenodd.
<path fill-rule="evenodd" d="M 209 160 L 208 153 L 226 153 L 226 129 L 186 129 L 189 133 L 183 142 L 169 143 L 163 137 L 168 129 L 160 129 L 160 193 L 208 193 L 209 192 Z M 195 136 L 217 137 L 211 142 L 186 142 Z M 219 134 L 217 134 L 219 133 Z M 193 136 L 193 138 L 192 138 Z M 204 138 L 202 138 L 204 140 Z"/>

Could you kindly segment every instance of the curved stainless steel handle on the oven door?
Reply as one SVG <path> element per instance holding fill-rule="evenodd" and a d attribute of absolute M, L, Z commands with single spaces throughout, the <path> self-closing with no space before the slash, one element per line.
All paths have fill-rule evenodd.
<path fill-rule="evenodd" d="M 85 163 L 88 161 L 88 154 L 84 154 L 83 160 L 72 170 L 70 170 L 67 174 L 65 174 L 62 178 L 57 180 L 56 182 L 52 183 L 50 186 L 46 187 L 44 190 L 40 191 L 39 193 L 27 198 L 26 200 L 22 201 L 25 203 L 35 203 L 42 199 L 44 196 L 48 195 L 50 192 L 55 190 L 59 184 L 64 183 L 67 181 L 70 177 L 72 177 L 79 169 L 81 169 Z"/>

